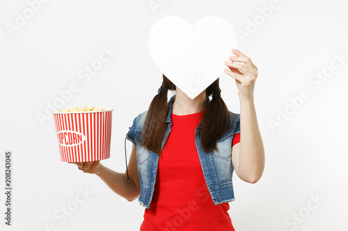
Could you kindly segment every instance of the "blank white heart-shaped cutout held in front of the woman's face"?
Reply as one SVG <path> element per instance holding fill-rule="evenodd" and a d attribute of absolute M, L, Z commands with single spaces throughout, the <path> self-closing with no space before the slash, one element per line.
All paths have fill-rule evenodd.
<path fill-rule="evenodd" d="M 224 61 L 237 49 L 237 35 L 222 17 L 204 17 L 192 26 L 183 17 L 168 15 L 152 26 L 148 46 L 159 71 L 195 99 L 228 68 Z"/>

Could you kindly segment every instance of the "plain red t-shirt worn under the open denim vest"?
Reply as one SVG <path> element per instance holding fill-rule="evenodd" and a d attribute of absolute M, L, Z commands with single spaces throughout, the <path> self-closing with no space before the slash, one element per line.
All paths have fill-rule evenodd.
<path fill-rule="evenodd" d="M 171 114 L 171 132 L 161 151 L 155 191 L 141 231 L 235 231 L 228 214 L 230 205 L 214 205 L 200 165 L 195 130 L 204 112 Z M 237 142 L 239 134 L 232 146 Z"/>

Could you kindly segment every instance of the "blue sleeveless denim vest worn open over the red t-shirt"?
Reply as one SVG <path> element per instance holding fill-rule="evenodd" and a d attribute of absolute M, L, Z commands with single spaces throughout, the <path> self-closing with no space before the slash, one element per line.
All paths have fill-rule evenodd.
<path fill-rule="evenodd" d="M 171 108 L 175 101 L 175 95 L 171 97 L 168 102 L 166 131 L 164 132 L 163 141 L 161 143 L 161 150 L 166 142 L 166 139 L 171 132 Z M 207 97 L 207 103 L 209 103 Z M 153 151 L 148 151 L 141 146 L 141 130 L 145 121 L 145 111 L 139 114 L 134 120 L 133 125 L 126 135 L 126 139 L 135 144 L 136 147 L 136 166 L 138 168 L 141 193 L 138 198 L 139 204 L 148 209 L 152 200 L 152 195 L 155 189 L 157 166 L 159 156 Z M 202 121 L 196 128 L 196 148 L 200 165 L 203 169 L 203 175 L 209 194 L 214 202 L 214 205 L 227 203 L 235 200 L 235 194 L 232 185 L 233 166 L 231 163 L 232 153 L 232 139 L 236 133 L 240 133 L 239 118 L 240 114 L 230 112 L 231 123 L 228 131 L 216 141 L 218 152 L 212 151 L 207 154 L 203 150 L 200 143 L 200 129 L 202 128 Z"/>

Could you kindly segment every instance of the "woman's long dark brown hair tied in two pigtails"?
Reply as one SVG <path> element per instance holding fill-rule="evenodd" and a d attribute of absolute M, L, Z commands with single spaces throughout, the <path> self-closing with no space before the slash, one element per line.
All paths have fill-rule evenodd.
<path fill-rule="evenodd" d="M 164 74 L 161 86 L 171 91 L 176 90 L 176 86 Z M 206 97 L 212 95 L 214 87 L 219 87 L 219 78 L 207 87 Z M 142 145 L 159 157 L 161 157 L 161 143 L 166 131 L 167 96 L 168 92 L 162 91 L 152 99 L 141 131 Z M 205 105 L 200 131 L 200 142 L 205 153 L 217 151 L 216 141 L 228 130 L 230 119 L 230 112 L 220 96 L 212 97 L 212 100 Z"/>

